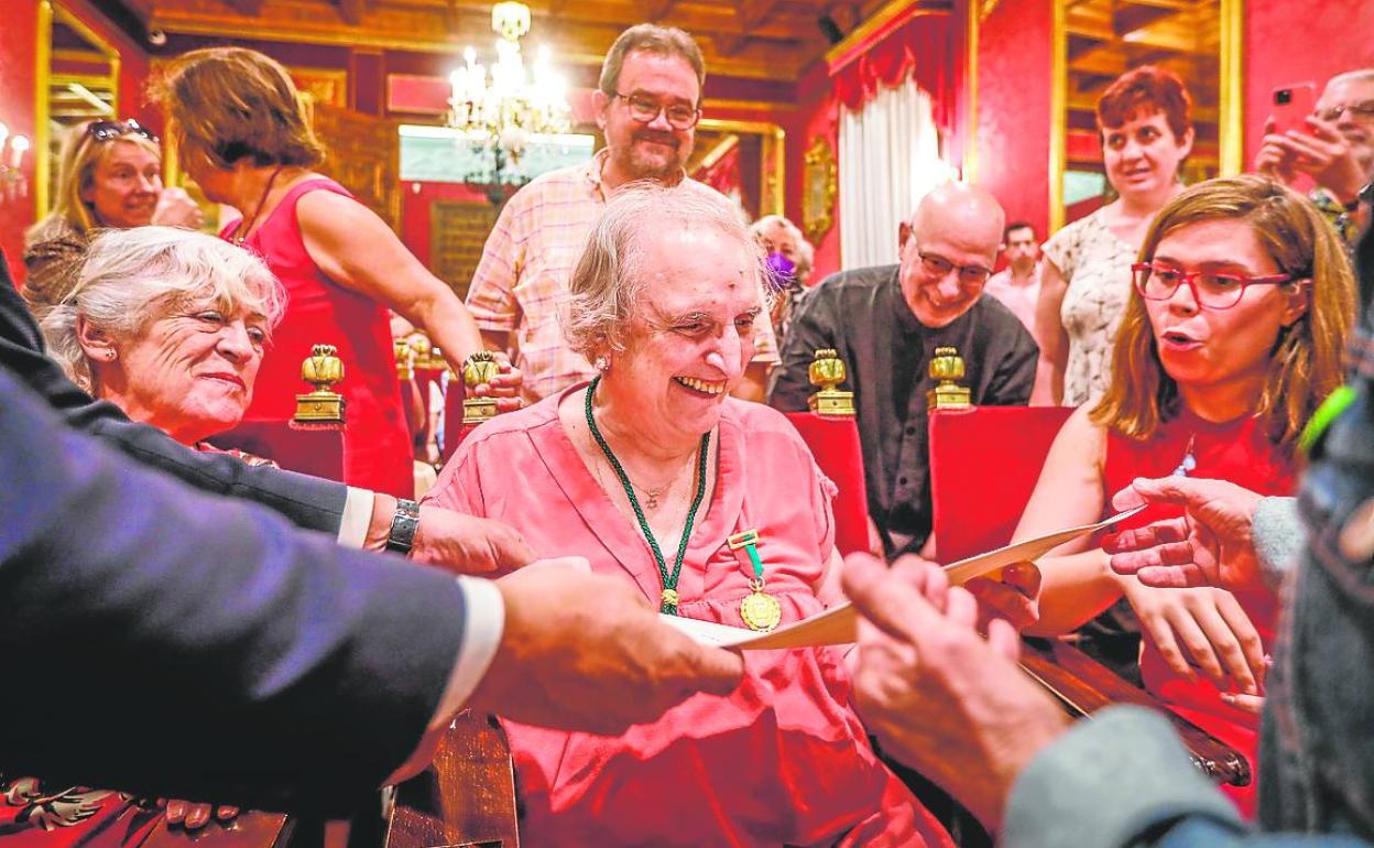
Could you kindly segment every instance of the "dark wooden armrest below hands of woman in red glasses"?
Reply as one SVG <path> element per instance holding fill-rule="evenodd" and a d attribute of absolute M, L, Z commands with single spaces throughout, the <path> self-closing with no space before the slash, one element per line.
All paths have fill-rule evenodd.
<path fill-rule="evenodd" d="M 1250 764 L 1230 745 L 1176 715 L 1150 693 L 1127 683 L 1092 657 L 1059 639 L 1022 639 L 1021 668 L 1050 690 L 1074 716 L 1113 704 L 1135 704 L 1154 709 L 1183 739 L 1193 764 L 1217 783 L 1246 786 Z"/>

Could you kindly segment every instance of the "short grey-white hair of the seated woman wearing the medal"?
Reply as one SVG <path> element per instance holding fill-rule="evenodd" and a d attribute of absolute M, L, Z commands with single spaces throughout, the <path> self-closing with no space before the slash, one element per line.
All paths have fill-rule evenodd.
<path fill-rule="evenodd" d="M 688 228 L 714 230 L 747 252 L 754 287 L 767 308 L 763 250 L 724 195 L 640 180 L 611 195 L 573 269 L 562 315 L 563 335 L 573 350 L 592 359 L 607 348 L 625 349 L 625 328 L 644 289 L 644 241 Z"/>

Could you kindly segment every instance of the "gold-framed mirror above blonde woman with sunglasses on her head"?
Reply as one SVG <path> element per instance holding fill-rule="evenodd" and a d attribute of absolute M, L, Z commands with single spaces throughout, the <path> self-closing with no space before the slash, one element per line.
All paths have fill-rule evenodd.
<path fill-rule="evenodd" d="M 38 217 L 52 208 L 67 126 L 120 114 L 120 51 L 58 3 L 38 7 L 38 100 L 34 165 Z"/>

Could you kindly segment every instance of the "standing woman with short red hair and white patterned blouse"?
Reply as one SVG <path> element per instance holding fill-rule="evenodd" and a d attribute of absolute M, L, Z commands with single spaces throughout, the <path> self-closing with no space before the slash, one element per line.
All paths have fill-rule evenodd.
<path fill-rule="evenodd" d="M 1106 389 L 1131 264 L 1150 221 L 1183 188 L 1191 111 L 1183 81 L 1151 65 L 1121 74 L 1098 100 L 1102 162 L 1117 199 L 1044 243 L 1032 404 L 1077 407 Z"/>

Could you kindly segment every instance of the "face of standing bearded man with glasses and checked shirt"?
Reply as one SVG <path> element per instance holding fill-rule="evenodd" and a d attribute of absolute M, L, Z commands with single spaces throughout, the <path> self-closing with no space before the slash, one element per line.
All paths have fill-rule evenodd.
<path fill-rule="evenodd" d="M 614 93 L 624 96 L 614 96 Z M 691 155 L 697 128 L 677 129 L 664 109 L 647 124 L 631 117 L 625 98 L 661 107 L 697 109 L 701 87 L 697 71 L 682 56 L 632 51 L 621 66 L 616 92 L 596 91 L 596 125 L 606 135 L 610 158 L 622 180 L 673 179 Z"/>

